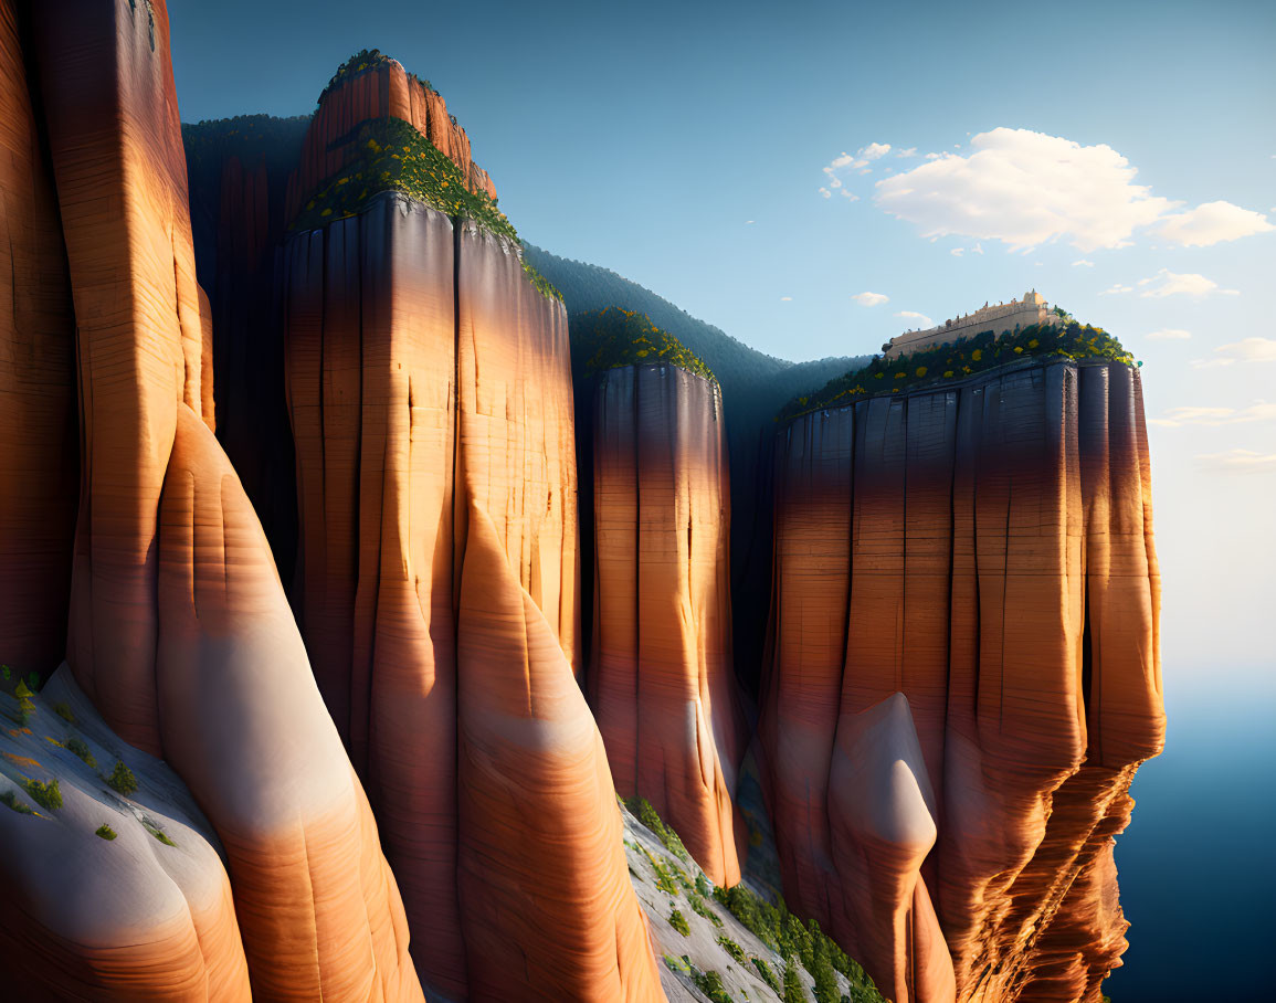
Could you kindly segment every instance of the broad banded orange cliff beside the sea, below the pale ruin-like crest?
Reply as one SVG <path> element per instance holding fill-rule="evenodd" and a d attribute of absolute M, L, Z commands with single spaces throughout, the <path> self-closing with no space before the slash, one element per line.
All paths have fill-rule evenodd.
<path fill-rule="evenodd" d="M 1138 374 L 1051 362 L 794 421 L 762 748 L 785 893 L 903 1000 L 1097 999 L 1162 743 Z"/>

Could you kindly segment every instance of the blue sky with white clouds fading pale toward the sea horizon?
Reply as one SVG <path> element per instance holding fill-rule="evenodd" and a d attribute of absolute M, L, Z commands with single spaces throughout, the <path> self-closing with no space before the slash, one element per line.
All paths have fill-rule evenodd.
<path fill-rule="evenodd" d="M 1276 4 L 168 6 L 185 120 L 308 112 L 379 47 L 524 237 L 763 351 L 1032 287 L 1108 328 L 1160 422 L 1168 679 L 1272 692 Z"/>

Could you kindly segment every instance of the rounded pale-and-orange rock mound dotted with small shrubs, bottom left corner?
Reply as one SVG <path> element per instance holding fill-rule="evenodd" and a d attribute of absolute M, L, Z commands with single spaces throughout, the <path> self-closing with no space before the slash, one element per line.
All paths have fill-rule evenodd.
<path fill-rule="evenodd" d="M 10 998 L 251 999 L 221 845 L 172 769 L 120 741 L 66 666 L 26 724 L 0 694 L 0 726 Z M 116 763 L 135 790 L 107 785 Z M 28 781 L 56 782 L 56 806 Z"/>

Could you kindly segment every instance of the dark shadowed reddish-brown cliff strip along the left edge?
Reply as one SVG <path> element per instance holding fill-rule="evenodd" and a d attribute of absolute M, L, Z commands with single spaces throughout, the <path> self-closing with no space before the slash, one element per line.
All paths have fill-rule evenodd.
<path fill-rule="evenodd" d="M 78 490 L 75 319 L 57 200 L 0 4 L 0 650 L 26 675 L 66 648 Z"/>

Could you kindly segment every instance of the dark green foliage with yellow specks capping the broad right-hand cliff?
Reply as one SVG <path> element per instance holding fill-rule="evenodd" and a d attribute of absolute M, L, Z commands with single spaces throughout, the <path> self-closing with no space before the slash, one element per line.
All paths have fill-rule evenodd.
<path fill-rule="evenodd" d="M 994 337 L 991 331 L 962 338 L 954 345 L 938 346 L 900 359 L 877 356 L 863 369 L 827 383 L 808 397 L 795 397 L 780 411 L 778 420 L 826 407 L 843 407 L 868 397 L 930 389 L 954 383 L 975 373 L 985 373 L 1021 359 L 1095 359 L 1136 365 L 1134 356 L 1102 328 L 1067 320 L 1063 324 L 1034 324 Z"/>

